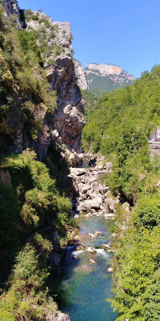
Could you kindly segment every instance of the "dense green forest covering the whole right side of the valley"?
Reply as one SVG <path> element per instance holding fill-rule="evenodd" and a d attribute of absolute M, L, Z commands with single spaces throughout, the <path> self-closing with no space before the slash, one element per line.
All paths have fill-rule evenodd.
<path fill-rule="evenodd" d="M 96 100 L 89 93 L 82 146 L 113 162 L 112 173 L 99 179 L 113 195 L 131 204 L 129 215 L 121 206 L 116 211 L 112 228 L 119 235 L 113 260 L 115 296 L 108 300 L 118 310 L 117 321 L 157 321 L 160 162 L 150 152 L 147 137 L 160 125 L 160 65 L 142 73 L 130 87 L 106 92 Z"/>

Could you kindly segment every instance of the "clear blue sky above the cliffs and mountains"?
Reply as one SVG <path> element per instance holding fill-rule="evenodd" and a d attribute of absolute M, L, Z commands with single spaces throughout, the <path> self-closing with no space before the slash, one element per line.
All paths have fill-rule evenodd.
<path fill-rule="evenodd" d="M 139 77 L 160 63 L 159 0 L 19 0 L 19 5 L 70 22 L 75 58 L 84 67 L 119 65 Z"/>

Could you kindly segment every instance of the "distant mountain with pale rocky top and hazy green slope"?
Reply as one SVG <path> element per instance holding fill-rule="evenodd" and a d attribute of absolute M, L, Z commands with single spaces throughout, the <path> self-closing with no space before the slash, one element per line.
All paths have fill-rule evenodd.
<path fill-rule="evenodd" d="M 131 85 L 136 78 L 120 66 L 111 64 L 88 64 L 85 68 L 90 90 L 112 91 L 118 87 Z M 103 77 L 103 78 L 102 78 Z"/>

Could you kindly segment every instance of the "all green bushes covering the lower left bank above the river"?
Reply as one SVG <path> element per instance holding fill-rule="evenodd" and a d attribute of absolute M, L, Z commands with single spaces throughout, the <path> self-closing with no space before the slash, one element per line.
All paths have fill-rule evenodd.
<path fill-rule="evenodd" d="M 32 246 L 25 245 L 27 237 L 42 229 L 47 217 L 52 230 L 59 230 L 63 245 L 68 241 L 66 224 L 72 225 L 71 203 L 60 196 L 49 170 L 36 160 L 33 151 L 19 155 L 20 163 L 1 169 L 8 170 L 11 185 L 0 183 L 0 276 L 4 280 L 16 263 L 8 282 L 1 284 L 0 319 L 3 321 L 41 320 L 57 308 L 47 295 L 44 281 L 48 275 L 46 259 L 52 244 L 37 232 Z M 62 243 L 62 241 L 61 241 Z M 7 291 L 8 290 L 8 291 Z"/>

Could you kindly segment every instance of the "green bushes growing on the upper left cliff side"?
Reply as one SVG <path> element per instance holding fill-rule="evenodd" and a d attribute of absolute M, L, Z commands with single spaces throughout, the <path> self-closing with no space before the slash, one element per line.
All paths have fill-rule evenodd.
<path fill-rule="evenodd" d="M 2 15 L 2 6 L 0 11 Z M 15 94 L 18 95 L 23 108 L 26 134 L 36 140 L 43 130 L 43 122 L 36 119 L 35 110 L 48 111 L 51 118 L 57 106 L 56 92 L 50 90 L 45 71 L 40 66 L 41 51 L 34 32 L 16 31 L 10 23 L 7 26 L 0 23 L 0 34 L 3 37 L 0 56 L 0 121 L 7 117 Z"/>

